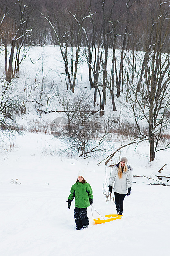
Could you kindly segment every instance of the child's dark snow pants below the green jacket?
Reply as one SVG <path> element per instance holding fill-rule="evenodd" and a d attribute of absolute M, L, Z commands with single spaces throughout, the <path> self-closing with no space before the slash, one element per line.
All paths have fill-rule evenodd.
<path fill-rule="evenodd" d="M 89 225 L 89 220 L 87 217 L 87 208 L 75 207 L 74 217 L 77 228 L 82 228 Z"/>

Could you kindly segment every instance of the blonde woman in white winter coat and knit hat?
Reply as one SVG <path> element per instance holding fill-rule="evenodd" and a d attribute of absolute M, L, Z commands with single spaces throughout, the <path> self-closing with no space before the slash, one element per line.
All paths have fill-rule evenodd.
<path fill-rule="evenodd" d="M 121 161 L 116 164 L 116 167 L 113 169 L 110 182 L 109 182 L 109 191 L 112 193 L 112 186 L 114 183 L 114 196 L 117 214 L 122 214 L 123 212 L 123 200 L 125 196 L 129 196 L 132 186 L 132 168 L 127 165 L 128 159 L 122 157 Z M 127 193 L 128 189 L 128 193 Z M 127 194 L 126 194 L 127 193 Z"/>

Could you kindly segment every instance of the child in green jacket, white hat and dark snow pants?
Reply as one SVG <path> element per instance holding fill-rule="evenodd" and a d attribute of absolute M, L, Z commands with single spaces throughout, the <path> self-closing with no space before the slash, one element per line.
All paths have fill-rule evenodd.
<path fill-rule="evenodd" d="M 93 203 L 91 186 L 84 177 L 84 171 L 79 171 L 77 181 L 72 185 L 71 194 L 68 197 L 68 209 L 70 209 L 71 201 L 75 197 L 74 218 L 77 230 L 88 227 L 87 207 Z"/>

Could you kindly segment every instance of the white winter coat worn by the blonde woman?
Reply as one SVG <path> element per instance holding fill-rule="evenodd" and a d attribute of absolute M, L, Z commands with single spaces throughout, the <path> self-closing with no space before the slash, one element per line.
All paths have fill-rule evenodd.
<path fill-rule="evenodd" d="M 114 192 L 126 194 L 128 187 L 132 187 L 132 171 L 130 166 L 128 166 L 128 171 L 122 173 L 122 179 L 118 176 L 118 168 L 116 166 L 111 173 L 109 186 L 113 187 Z"/>

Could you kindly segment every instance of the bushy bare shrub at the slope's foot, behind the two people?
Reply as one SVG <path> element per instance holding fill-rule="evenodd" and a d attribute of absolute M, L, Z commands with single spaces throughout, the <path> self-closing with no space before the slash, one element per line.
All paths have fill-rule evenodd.
<path fill-rule="evenodd" d="M 61 95 L 59 100 L 61 102 Z M 98 113 L 93 111 L 89 95 L 84 91 L 74 97 L 67 93 L 62 103 L 69 122 L 57 135 L 67 145 L 67 150 L 76 154 L 78 152 L 80 157 L 94 156 L 97 152 L 107 152 L 109 147 L 105 148 L 103 143 L 111 128 L 108 129 L 107 122 L 102 123 Z"/>

